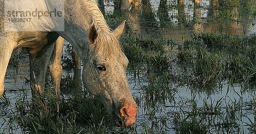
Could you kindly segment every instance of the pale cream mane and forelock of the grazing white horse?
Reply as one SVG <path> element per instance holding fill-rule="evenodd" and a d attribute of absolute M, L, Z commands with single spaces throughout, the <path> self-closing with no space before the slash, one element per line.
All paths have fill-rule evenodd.
<path fill-rule="evenodd" d="M 111 57 L 115 52 L 122 51 L 117 37 L 112 33 L 111 28 L 109 28 L 95 0 L 83 0 L 83 2 L 86 4 L 81 4 L 81 8 L 86 9 L 84 14 L 91 16 L 91 26 L 95 25 L 98 33 L 96 43 L 93 45 L 94 54 L 102 54 L 105 57 Z M 86 7 L 83 7 L 85 5 Z"/>

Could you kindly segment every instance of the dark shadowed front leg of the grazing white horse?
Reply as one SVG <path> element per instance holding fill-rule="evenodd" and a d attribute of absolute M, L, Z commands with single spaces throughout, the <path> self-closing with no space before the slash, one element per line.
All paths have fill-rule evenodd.
<path fill-rule="evenodd" d="M 33 95 L 44 95 L 45 73 L 54 45 L 29 49 L 30 87 Z"/>

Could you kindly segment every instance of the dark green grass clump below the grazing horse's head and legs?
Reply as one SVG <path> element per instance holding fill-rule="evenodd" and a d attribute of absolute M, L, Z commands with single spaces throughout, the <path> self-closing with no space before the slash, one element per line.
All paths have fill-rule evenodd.
<path fill-rule="evenodd" d="M 23 98 L 16 102 L 17 120 L 21 126 L 30 126 L 36 133 L 58 134 L 101 134 L 114 129 L 111 115 L 93 97 L 61 95 L 57 112 L 57 100 L 52 88 L 47 88 L 44 98 L 38 96 L 39 99 L 32 101 Z"/>

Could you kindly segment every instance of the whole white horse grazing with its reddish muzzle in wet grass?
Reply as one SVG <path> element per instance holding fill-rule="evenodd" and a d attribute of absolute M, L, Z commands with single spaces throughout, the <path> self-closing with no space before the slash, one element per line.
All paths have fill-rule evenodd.
<path fill-rule="evenodd" d="M 36 17 L 30 15 L 33 13 Z M 0 96 L 10 56 L 19 47 L 29 51 L 32 92 L 43 95 L 47 64 L 54 42 L 61 36 L 72 44 L 84 64 L 84 87 L 101 100 L 117 124 L 133 125 L 137 104 L 126 78 L 128 59 L 118 41 L 124 25 L 122 22 L 111 31 L 94 0 L 0 0 Z M 55 53 L 61 50 L 61 45 L 55 47 Z M 55 65 L 59 63 L 50 66 L 57 85 L 61 70 Z"/>

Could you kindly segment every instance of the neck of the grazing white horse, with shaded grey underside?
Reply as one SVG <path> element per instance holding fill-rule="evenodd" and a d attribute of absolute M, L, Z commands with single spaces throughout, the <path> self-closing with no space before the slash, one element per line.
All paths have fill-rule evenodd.
<path fill-rule="evenodd" d="M 81 60 L 87 59 L 90 43 L 87 31 L 94 23 L 101 31 L 110 32 L 103 14 L 94 0 L 65 0 L 65 31 L 59 32 L 75 47 Z"/>

